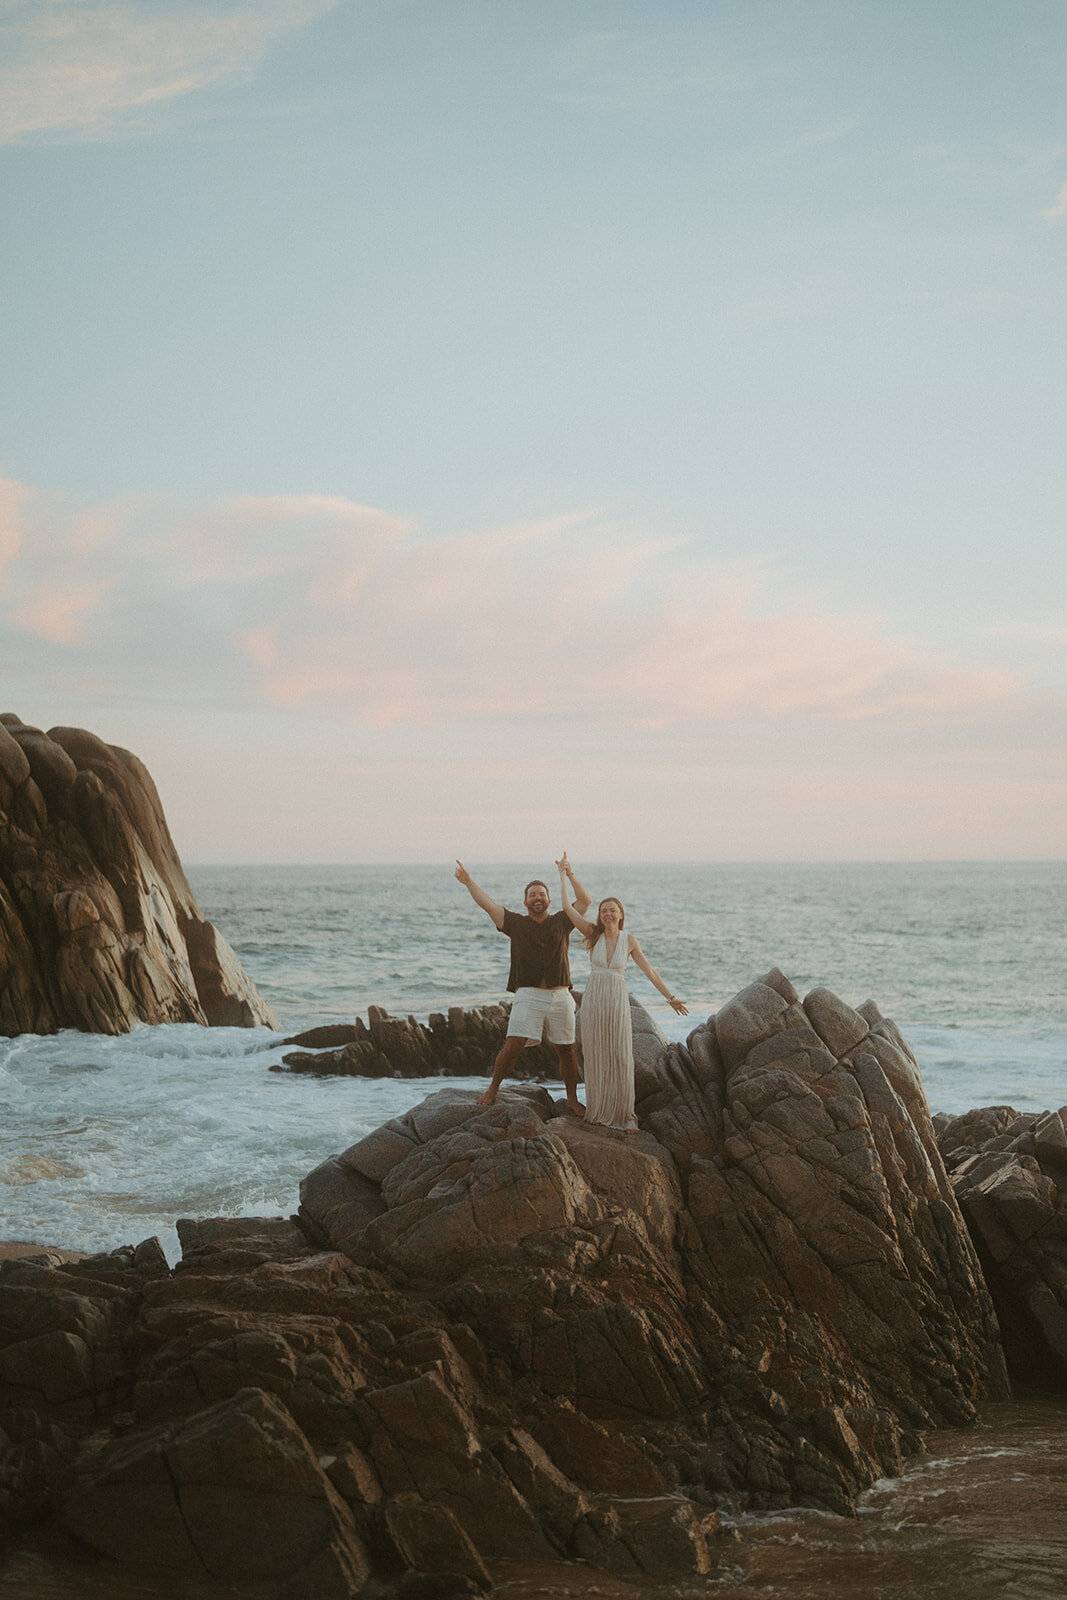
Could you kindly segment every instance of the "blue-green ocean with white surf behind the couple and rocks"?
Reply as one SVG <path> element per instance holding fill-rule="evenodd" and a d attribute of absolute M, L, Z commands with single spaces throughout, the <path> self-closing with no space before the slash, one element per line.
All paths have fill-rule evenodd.
<path fill-rule="evenodd" d="M 544 862 L 469 866 L 514 907 L 528 878 L 555 882 Z M 577 867 L 595 898 L 622 899 L 689 1003 L 675 1016 L 632 971 L 669 1038 L 781 966 L 801 994 L 877 1000 L 933 1110 L 1067 1101 L 1065 862 Z M 286 1034 L 370 1005 L 426 1021 L 502 995 L 507 944 L 448 864 L 189 878 Z M 576 987 L 582 968 L 574 941 Z M 0 1238 L 112 1250 L 155 1234 L 173 1261 L 178 1218 L 290 1214 L 312 1166 L 440 1086 L 270 1072 L 282 1037 L 182 1024 L 0 1040 Z"/>

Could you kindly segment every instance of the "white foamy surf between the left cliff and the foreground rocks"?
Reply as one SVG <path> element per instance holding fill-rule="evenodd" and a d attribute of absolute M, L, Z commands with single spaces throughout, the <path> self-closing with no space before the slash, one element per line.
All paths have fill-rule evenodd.
<path fill-rule="evenodd" d="M 179 1216 L 288 1216 L 312 1166 L 440 1086 L 275 1074 L 266 1029 L 24 1035 L 0 1051 L 0 1235 L 112 1250 L 157 1234 L 171 1259 Z"/>

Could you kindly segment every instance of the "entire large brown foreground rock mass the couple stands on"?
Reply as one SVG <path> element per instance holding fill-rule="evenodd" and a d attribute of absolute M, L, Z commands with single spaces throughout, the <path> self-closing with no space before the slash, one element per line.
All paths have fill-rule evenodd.
<path fill-rule="evenodd" d="M 848 1512 L 1005 1395 L 873 1005 L 769 973 L 635 1054 L 633 1136 L 450 1086 L 298 1219 L 179 1224 L 173 1274 L 150 1242 L 6 1264 L 0 1510 L 278 1600 L 470 1594 L 517 1555 L 665 1578 L 715 1565 L 720 1514 Z"/>

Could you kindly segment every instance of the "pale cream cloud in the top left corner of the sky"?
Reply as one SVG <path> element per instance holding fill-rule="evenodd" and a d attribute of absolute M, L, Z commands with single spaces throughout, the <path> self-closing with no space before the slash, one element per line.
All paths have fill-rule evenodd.
<path fill-rule="evenodd" d="M 282 34 L 338 0 L 8 0 L 0 142 L 107 136 L 131 112 L 254 69 Z"/>

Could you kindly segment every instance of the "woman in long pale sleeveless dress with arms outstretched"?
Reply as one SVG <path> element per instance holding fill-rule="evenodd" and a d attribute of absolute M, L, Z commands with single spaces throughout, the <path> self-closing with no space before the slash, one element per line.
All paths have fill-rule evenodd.
<path fill-rule="evenodd" d="M 637 1133 L 633 1114 L 633 1032 L 630 1029 L 630 995 L 625 987 L 625 963 L 632 955 L 649 982 L 659 989 L 678 1016 L 689 1008 L 670 994 L 659 973 L 648 965 L 645 952 L 632 933 L 624 931 L 625 912 L 614 896 L 597 907 L 597 920 L 587 922 L 574 910 L 568 875 L 571 864 L 557 861 L 563 910 L 582 934 L 589 950 L 589 982 L 582 995 L 582 1061 L 585 1062 L 585 1122 L 605 1128 Z"/>

